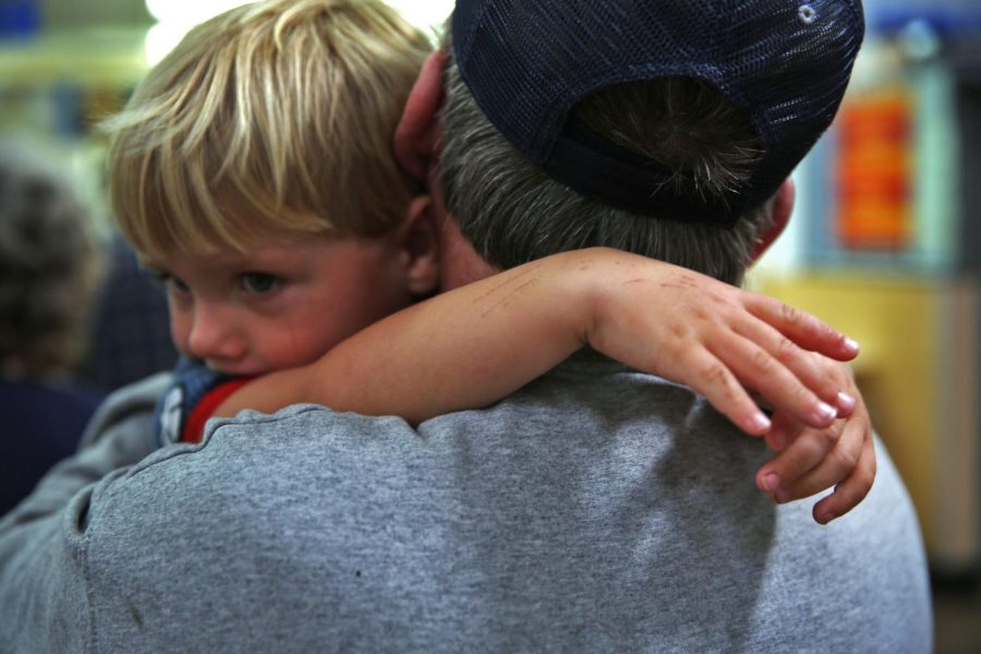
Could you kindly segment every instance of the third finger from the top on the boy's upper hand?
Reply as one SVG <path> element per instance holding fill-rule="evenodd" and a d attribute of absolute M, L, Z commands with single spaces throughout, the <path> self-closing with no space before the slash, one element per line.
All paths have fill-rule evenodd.
<path fill-rule="evenodd" d="M 801 422 L 824 427 L 837 416 L 832 404 L 822 401 L 783 362 L 751 339 L 724 335 L 711 351 L 731 368 L 736 377 L 755 390 L 774 409 L 786 411 Z"/>

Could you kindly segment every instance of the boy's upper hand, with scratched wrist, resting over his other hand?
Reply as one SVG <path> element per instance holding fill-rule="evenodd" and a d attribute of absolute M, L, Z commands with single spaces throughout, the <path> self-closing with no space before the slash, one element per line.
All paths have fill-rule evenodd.
<path fill-rule="evenodd" d="M 852 411 L 852 387 L 807 350 L 849 361 L 858 344 L 814 316 L 661 262 L 619 253 L 608 263 L 585 336 L 594 349 L 689 386 L 753 436 L 770 432 L 771 421 L 747 389 L 810 427 Z"/>

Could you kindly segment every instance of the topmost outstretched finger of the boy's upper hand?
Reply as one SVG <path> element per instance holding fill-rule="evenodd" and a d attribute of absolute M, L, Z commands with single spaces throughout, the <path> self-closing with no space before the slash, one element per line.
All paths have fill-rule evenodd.
<path fill-rule="evenodd" d="M 772 325 L 801 348 L 820 352 L 838 361 L 851 361 L 858 355 L 858 343 L 811 314 L 759 293 L 747 292 L 746 308 Z"/>

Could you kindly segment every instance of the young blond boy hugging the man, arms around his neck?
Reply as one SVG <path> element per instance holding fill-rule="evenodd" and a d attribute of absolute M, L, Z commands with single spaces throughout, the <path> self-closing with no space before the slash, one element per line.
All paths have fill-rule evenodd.
<path fill-rule="evenodd" d="M 192 31 L 107 123 L 119 227 L 166 284 L 187 359 L 162 407 L 171 439 L 295 402 L 419 422 L 493 402 L 583 344 L 688 384 L 772 444 L 784 428 L 743 386 L 818 428 L 850 412 L 845 383 L 788 339 L 843 360 L 853 343 L 644 257 L 567 253 L 415 304 L 438 290 L 443 226 L 390 137 L 428 51 L 382 2 L 246 5 Z M 776 498 L 856 485 L 828 447 L 791 448 L 758 476 Z M 840 516 L 863 495 L 823 501 Z"/>

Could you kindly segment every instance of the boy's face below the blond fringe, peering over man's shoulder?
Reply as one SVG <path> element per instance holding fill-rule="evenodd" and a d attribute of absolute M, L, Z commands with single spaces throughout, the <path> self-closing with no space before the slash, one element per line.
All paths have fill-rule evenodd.
<path fill-rule="evenodd" d="M 312 363 L 407 306 L 405 256 L 395 239 L 310 235 L 145 264 L 167 289 L 178 350 L 222 373 L 262 375 Z"/>

